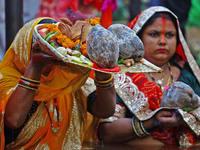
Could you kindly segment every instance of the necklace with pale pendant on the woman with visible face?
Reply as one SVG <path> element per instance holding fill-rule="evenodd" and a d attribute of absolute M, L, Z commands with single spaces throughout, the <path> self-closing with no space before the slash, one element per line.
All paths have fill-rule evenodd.
<path fill-rule="evenodd" d="M 172 75 L 171 65 L 170 65 L 169 62 L 168 62 L 168 68 L 169 68 L 171 80 L 172 80 L 172 83 L 173 83 L 173 82 L 174 82 L 174 77 L 173 77 L 173 75 Z M 162 77 L 160 80 L 158 80 L 158 81 L 156 82 L 156 80 L 155 80 L 155 78 L 153 77 L 153 75 L 152 75 L 151 73 L 148 73 L 148 74 L 150 75 L 151 79 L 161 88 L 162 91 L 165 91 L 165 87 L 167 87 L 167 86 L 170 85 L 170 76 L 169 76 L 169 78 L 168 78 L 167 85 L 166 85 L 165 87 L 163 87 L 163 86 L 162 86 L 162 83 L 163 83 L 164 75 L 163 75 L 163 77 Z"/>

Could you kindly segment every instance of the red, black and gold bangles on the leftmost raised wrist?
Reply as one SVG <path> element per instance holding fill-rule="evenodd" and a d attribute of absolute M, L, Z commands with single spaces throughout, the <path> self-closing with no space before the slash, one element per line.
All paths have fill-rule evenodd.
<path fill-rule="evenodd" d="M 38 87 L 40 86 L 40 81 L 28 79 L 25 77 L 21 77 L 19 79 L 18 85 L 30 90 L 37 90 Z"/>

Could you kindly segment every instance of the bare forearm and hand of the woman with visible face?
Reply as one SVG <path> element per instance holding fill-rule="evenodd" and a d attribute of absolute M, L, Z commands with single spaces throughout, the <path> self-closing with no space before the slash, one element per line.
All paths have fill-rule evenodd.
<path fill-rule="evenodd" d="M 156 126 L 172 127 L 181 123 L 181 116 L 171 110 L 160 110 L 152 118 L 142 121 L 148 131 Z M 140 138 L 133 130 L 132 118 L 119 118 L 112 123 L 101 123 L 98 130 L 104 143 L 127 143 Z"/>

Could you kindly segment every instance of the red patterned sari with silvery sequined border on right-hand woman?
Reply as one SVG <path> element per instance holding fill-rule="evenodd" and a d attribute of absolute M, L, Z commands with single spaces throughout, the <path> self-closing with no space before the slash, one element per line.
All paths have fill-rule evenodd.
<path fill-rule="evenodd" d="M 156 12 L 168 12 L 176 19 L 177 17 L 168 9 L 164 7 L 150 7 L 141 12 L 128 26 L 136 33 L 140 31 L 147 20 Z M 177 20 L 177 24 L 178 20 Z M 175 59 L 185 61 L 189 64 L 191 73 L 195 78 L 196 84 L 200 83 L 200 70 L 193 58 L 185 39 L 178 28 L 179 41 L 176 49 Z M 179 79 L 181 76 L 179 77 Z M 162 99 L 162 90 L 156 84 L 148 81 L 143 73 L 134 74 L 118 74 L 115 76 L 116 91 L 123 104 L 116 107 L 114 116 L 105 119 L 104 121 L 114 121 L 121 117 L 126 117 L 127 109 L 135 115 L 139 120 L 144 121 L 151 118 L 157 111 L 163 109 L 160 107 Z M 198 90 L 198 89 L 197 89 Z M 192 145 L 200 135 L 200 108 L 197 108 L 190 113 L 181 109 L 177 109 L 181 114 L 185 126 L 178 126 L 176 128 L 157 127 L 153 131 L 153 137 L 159 139 L 168 145 Z"/>

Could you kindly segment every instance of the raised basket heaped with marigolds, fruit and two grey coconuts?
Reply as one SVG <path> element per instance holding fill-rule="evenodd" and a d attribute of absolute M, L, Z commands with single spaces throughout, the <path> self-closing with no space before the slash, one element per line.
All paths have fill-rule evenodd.
<path fill-rule="evenodd" d="M 144 47 L 133 30 L 122 24 L 108 29 L 100 18 L 38 24 L 33 31 L 45 53 L 58 60 L 100 72 L 161 72 L 143 58 Z"/>

